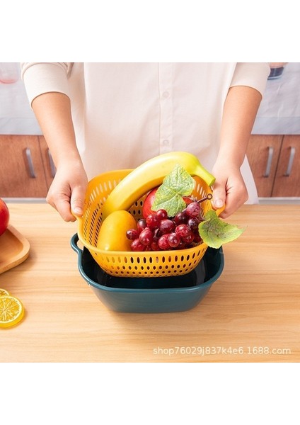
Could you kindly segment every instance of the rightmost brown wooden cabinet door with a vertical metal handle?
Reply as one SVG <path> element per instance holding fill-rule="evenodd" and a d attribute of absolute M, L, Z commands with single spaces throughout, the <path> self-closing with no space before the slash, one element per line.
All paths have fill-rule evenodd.
<path fill-rule="evenodd" d="M 283 138 L 272 196 L 300 196 L 300 135 Z"/>

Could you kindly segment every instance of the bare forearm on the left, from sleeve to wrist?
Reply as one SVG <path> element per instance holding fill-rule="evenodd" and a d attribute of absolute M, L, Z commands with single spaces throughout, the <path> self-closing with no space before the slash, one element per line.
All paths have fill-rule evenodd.
<path fill-rule="evenodd" d="M 32 108 L 52 154 L 54 164 L 81 161 L 76 147 L 69 97 L 50 92 L 37 96 Z"/>

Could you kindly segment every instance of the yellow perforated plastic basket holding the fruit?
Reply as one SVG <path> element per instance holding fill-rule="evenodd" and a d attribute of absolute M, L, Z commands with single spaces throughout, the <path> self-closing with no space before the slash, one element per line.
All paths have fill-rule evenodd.
<path fill-rule="evenodd" d="M 96 263 L 108 274 L 118 277 L 162 277 L 184 275 L 192 271 L 207 250 L 207 244 L 170 251 L 102 251 L 98 249 L 98 234 L 102 223 L 102 208 L 110 192 L 124 179 L 130 169 L 100 174 L 88 183 L 83 216 L 78 218 L 78 237 L 91 252 Z M 202 199 L 212 190 L 199 177 L 192 196 Z M 129 212 L 137 220 L 142 217 L 144 198 L 137 200 Z M 212 210 L 209 200 L 201 203 L 202 213 Z"/>

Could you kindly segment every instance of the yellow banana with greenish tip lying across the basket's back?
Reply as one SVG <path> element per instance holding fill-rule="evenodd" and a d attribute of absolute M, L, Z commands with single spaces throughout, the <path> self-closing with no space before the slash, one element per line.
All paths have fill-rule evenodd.
<path fill-rule="evenodd" d="M 151 158 L 131 171 L 111 191 L 103 205 L 103 217 L 115 210 L 128 210 L 136 200 L 152 188 L 159 186 L 175 164 L 180 164 L 191 176 L 198 176 L 212 186 L 214 176 L 200 164 L 195 155 L 188 152 L 169 152 Z"/>

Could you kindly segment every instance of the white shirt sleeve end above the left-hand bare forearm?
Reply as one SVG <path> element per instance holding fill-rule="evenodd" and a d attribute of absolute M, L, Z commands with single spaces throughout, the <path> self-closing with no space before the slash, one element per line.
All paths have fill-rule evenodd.
<path fill-rule="evenodd" d="M 56 91 L 69 96 L 72 62 L 21 62 L 21 77 L 30 105 L 40 94 Z"/>

